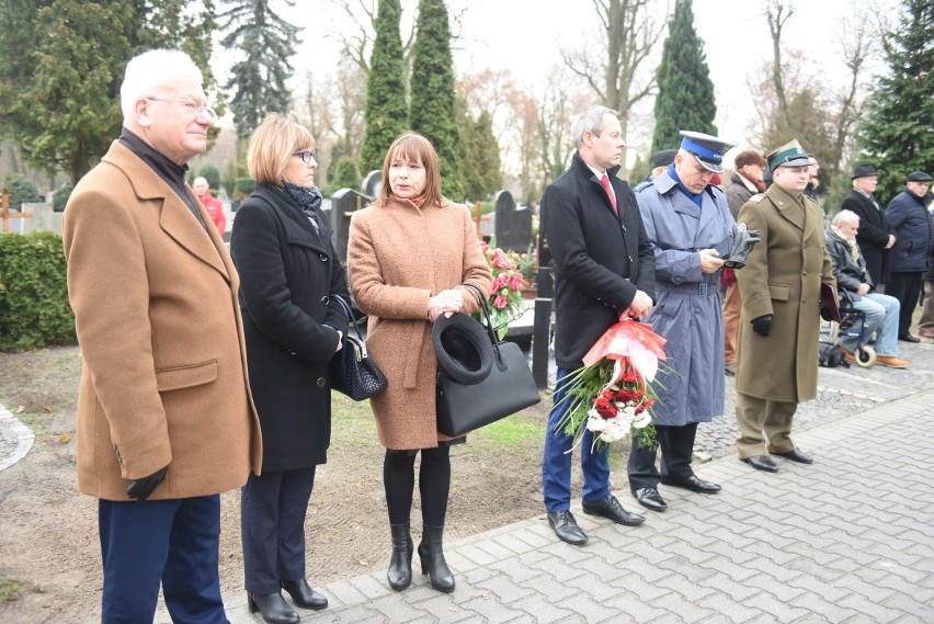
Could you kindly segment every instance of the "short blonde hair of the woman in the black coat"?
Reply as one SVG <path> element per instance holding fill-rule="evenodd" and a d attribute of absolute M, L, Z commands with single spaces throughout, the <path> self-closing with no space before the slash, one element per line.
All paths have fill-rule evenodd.
<path fill-rule="evenodd" d="M 270 113 L 250 135 L 247 170 L 258 184 L 281 185 L 288 159 L 297 151 L 315 149 L 311 132 L 292 117 Z"/>

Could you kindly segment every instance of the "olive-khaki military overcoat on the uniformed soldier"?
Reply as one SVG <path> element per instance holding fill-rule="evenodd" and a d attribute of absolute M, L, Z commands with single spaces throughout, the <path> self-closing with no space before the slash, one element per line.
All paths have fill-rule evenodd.
<path fill-rule="evenodd" d="M 785 402 L 817 396 L 821 282 L 836 285 L 823 236 L 823 214 L 806 195 L 795 200 L 777 184 L 754 195 L 739 223 L 762 231 L 737 271 L 742 295 L 737 392 Z M 751 321 L 773 315 L 762 337 Z"/>

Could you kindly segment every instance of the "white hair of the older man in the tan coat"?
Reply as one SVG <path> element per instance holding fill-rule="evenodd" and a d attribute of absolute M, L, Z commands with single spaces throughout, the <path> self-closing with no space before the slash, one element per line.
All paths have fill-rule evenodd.
<path fill-rule="evenodd" d="M 151 97 L 161 87 L 173 84 L 180 78 L 193 78 L 201 84 L 203 77 L 192 57 L 179 49 L 150 49 L 133 57 L 126 64 L 119 88 L 119 105 L 124 121 L 133 118 L 136 103 Z"/>

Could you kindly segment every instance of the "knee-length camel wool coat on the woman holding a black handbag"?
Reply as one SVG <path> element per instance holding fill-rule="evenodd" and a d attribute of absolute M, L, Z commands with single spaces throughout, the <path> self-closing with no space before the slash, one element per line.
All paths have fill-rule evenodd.
<path fill-rule="evenodd" d="M 437 360 L 428 303 L 463 282 L 489 295 L 492 273 L 467 206 L 444 200 L 418 207 L 390 197 L 385 206 L 354 213 L 348 277 L 356 306 L 369 315 L 367 351 L 388 381 L 386 390 L 369 399 L 379 443 L 402 451 L 449 440 L 437 431 Z M 477 311 L 474 292 L 460 291 L 463 311 Z"/>

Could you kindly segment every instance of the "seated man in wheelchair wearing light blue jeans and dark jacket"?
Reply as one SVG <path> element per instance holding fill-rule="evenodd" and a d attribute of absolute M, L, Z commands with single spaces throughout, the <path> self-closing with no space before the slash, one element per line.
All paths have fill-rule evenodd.
<path fill-rule="evenodd" d="M 833 262 L 833 276 L 840 291 L 840 310 L 843 316 L 838 347 L 848 362 L 857 362 L 856 352 L 876 333 L 876 362 L 891 368 L 908 368 L 908 362 L 898 358 L 898 299 L 875 292 L 866 261 L 856 245 L 859 216 L 852 211 L 840 211 L 827 228 L 827 252 Z M 859 322 L 863 317 L 862 331 Z M 843 331 L 845 329 L 856 331 Z"/>

